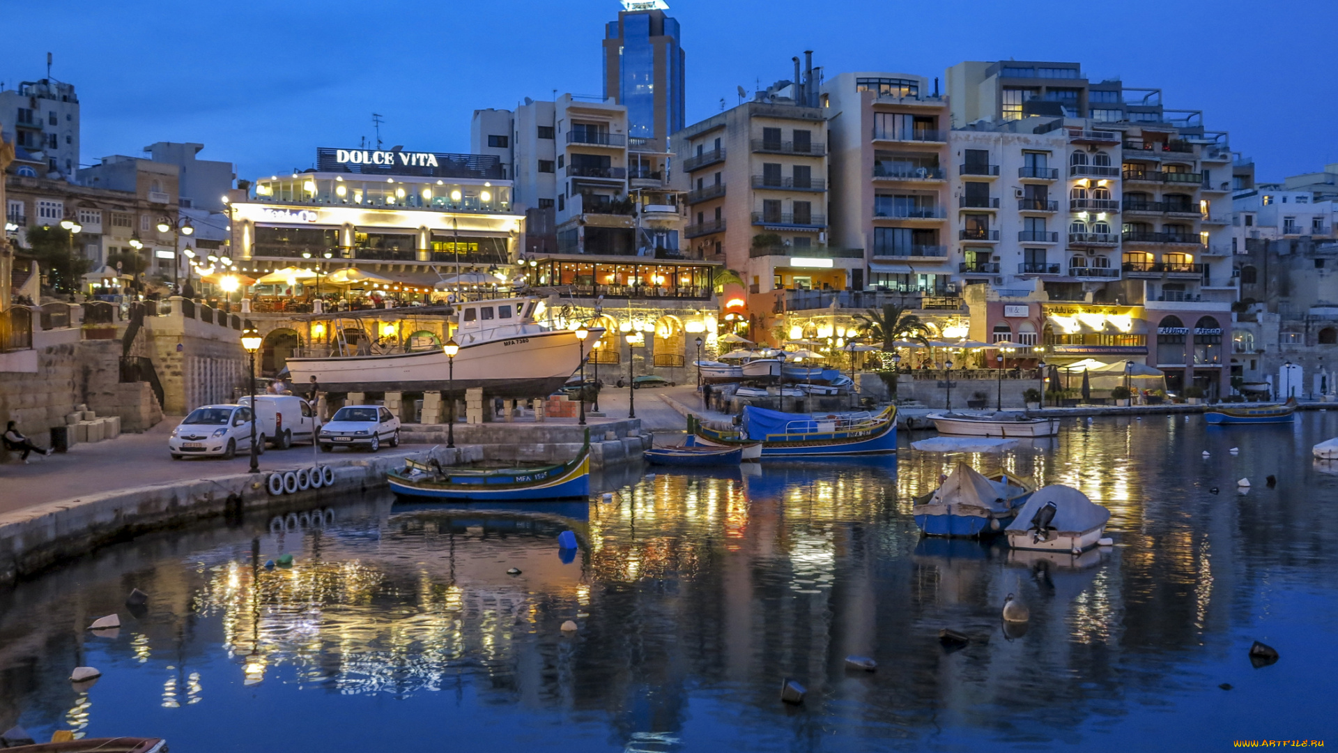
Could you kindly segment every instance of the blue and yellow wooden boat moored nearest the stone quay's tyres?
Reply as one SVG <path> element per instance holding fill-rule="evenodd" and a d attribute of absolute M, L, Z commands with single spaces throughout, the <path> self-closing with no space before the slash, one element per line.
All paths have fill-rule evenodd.
<path fill-rule="evenodd" d="M 570 462 L 541 468 L 442 468 L 415 460 L 387 474 L 403 497 L 456 501 L 570 500 L 590 496 L 590 431 Z"/>

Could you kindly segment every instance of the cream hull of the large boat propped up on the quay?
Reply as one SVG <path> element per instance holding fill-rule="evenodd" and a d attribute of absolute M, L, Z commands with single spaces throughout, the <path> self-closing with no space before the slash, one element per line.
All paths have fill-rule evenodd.
<path fill-rule="evenodd" d="M 577 336 L 565 330 L 460 346 L 454 379 L 443 351 L 343 358 L 290 358 L 293 382 L 312 376 L 332 393 L 436 391 L 482 387 L 484 397 L 543 397 L 581 366 Z"/>

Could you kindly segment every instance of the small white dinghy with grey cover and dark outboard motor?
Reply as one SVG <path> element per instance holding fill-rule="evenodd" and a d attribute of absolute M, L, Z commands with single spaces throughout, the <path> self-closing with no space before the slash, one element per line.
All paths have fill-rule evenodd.
<path fill-rule="evenodd" d="M 1054 484 L 1032 493 L 1005 529 L 1014 549 L 1081 552 L 1096 545 L 1111 510 L 1073 486 Z"/>

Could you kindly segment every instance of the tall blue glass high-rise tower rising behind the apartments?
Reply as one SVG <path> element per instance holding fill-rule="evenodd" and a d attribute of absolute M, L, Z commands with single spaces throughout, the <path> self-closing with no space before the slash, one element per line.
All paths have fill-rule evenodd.
<path fill-rule="evenodd" d="M 633 138 L 668 145 L 684 126 L 684 52 L 678 21 L 662 0 L 622 0 L 603 39 L 603 98 L 628 109 Z"/>

